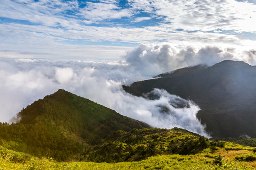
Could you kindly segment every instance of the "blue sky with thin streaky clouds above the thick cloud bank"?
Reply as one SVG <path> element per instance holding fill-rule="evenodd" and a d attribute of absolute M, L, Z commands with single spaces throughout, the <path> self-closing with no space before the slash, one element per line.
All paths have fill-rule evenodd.
<path fill-rule="evenodd" d="M 0 57 L 119 60 L 141 43 L 252 50 L 256 0 L 1 0 Z"/>

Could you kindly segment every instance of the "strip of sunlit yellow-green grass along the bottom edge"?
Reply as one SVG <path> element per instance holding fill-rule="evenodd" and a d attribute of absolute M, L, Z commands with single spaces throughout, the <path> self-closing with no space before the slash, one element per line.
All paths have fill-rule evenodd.
<path fill-rule="evenodd" d="M 0 157 L 0 170 L 255 170 L 256 161 L 222 160 L 202 153 L 196 155 L 157 155 L 143 161 L 119 163 L 56 162 L 51 158 L 32 157 L 28 161 L 14 162 L 9 156 Z"/>

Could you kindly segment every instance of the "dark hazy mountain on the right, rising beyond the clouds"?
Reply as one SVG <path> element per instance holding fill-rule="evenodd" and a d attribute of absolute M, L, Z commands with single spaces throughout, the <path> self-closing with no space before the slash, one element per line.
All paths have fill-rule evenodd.
<path fill-rule="evenodd" d="M 197 117 L 213 137 L 256 137 L 256 66 L 224 60 L 211 67 L 181 68 L 155 79 L 123 86 L 143 96 L 154 88 L 165 89 L 197 103 Z"/>

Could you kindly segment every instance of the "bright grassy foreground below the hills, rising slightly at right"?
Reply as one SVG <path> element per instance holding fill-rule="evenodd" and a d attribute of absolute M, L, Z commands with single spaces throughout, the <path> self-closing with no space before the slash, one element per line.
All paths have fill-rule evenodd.
<path fill-rule="evenodd" d="M 212 153 L 206 149 L 195 155 L 158 155 L 142 161 L 119 163 L 56 162 L 34 156 L 18 160 L 18 156 L 26 155 L 9 151 L 0 152 L 0 170 L 256 170 L 256 159 L 253 160 L 256 154 L 249 150 L 219 149 Z M 219 154 L 223 160 L 219 159 Z M 249 156 L 253 159 L 247 160 Z"/>

